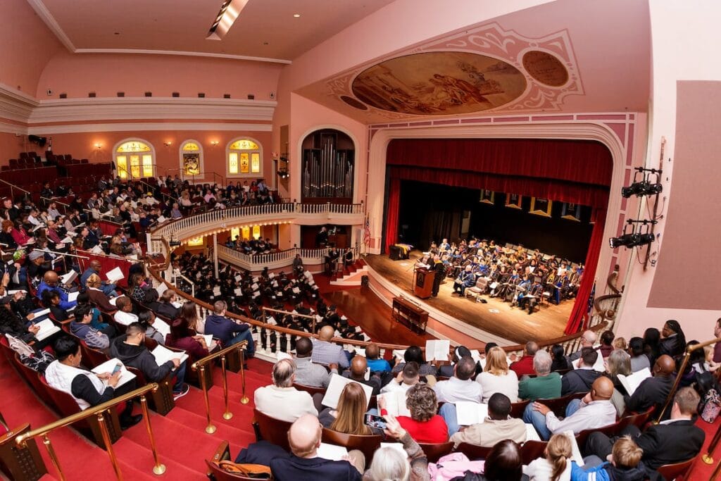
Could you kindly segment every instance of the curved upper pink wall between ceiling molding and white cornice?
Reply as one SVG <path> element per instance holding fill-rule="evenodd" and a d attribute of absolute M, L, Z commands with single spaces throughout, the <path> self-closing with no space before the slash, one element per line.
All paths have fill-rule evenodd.
<path fill-rule="evenodd" d="M 256 100 L 270 100 L 275 92 L 278 76 L 283 68 L 278 63 L 249 62 L 224 58 L 182 57 L 140 54 L 71 54 L 66 50 L 50 59 L 37 84 L 37 98 L 46 97 L 47 89 L 53 97 L 65 92 L 68 97 L 142 97 L 153 92 L 154 97 L 170 97 L 180 92 L 182 97 L 245 99 L 255 94 Z M 35 91 L 33 91 L 35 92 Z"/>

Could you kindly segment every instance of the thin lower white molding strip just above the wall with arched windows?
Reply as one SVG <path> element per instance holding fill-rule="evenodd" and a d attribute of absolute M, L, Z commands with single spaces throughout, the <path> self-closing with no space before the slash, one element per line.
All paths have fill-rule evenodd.
<path fill-rule="evenodd" d="M 8 124 L 10 125 L 10 124 Z M 3 124 L 0 123 L 0 131 Z M 131 132 L 131 131 L 232 131 L 232 132 L 270 132 L 270 123 L 222 123 L 222 122 L 123 122 L 123 123 L 75 123 L 65 125 L 42 125 L 25 128 L 28 134 L 36 136 L 56 133 L 89 132 Z M 14 132 L 13 132 L 14 133 Z"/>

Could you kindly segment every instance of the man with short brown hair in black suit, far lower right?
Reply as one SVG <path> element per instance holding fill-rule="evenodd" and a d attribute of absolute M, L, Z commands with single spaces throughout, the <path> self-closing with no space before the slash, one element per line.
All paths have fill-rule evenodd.
<path fill-rule="evenodd" d="M 684 462 L 699 454 L 706 437 L 704 431 L 694 425 L 699 394 L 691 387 L 678 389 L 673 398 L 671 419 L 658 425 L 650 425 L 641 433 L 639 428 L 630 425 L 621 433 L 631 436 L 638 447 L 643 449 L 643 462 L 650 469 L 658 469 L 663 464 Z M 603 433 L 591 433 L 586 441 L 586 453 L 606 459 L 616 438 Z"/>

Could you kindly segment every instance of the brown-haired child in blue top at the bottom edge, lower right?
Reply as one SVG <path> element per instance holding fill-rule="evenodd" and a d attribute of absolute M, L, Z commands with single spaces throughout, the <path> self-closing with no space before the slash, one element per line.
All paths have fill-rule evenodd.
<path fill-rule="evenodd" d="M 609 456 L 609 462 L 586 462 L 579 467 L 571 463 L 571 479 L 573 481 L 645 481 L 648 479 L 646 467 L 641 462 L 642 449 L 628 436 L 619 438 Z"/>

